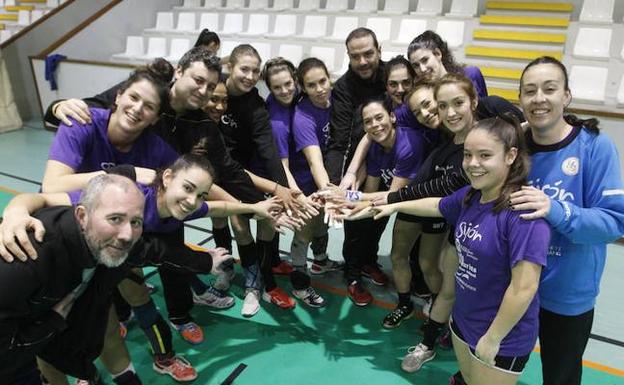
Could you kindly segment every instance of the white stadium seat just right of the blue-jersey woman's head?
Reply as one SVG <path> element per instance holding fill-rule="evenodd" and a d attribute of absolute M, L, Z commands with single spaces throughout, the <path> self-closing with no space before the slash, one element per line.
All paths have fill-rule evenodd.
<path fill-rule="evenodd" d="M 598 102 L 605 101 L 608 69 L 573 65 L 570 70 L 570 90 L 575 101 Z"/>

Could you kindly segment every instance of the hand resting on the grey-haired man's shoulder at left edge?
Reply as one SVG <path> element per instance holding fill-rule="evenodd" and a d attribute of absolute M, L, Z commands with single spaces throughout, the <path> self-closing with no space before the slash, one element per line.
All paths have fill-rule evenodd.
<path fill-rule="evenodd" d="M 28 258 L 37 259 L 37 251 L 28 238 L 28 231 L 35 233 L 38 242 L 43 241 L 45 228 L 43 223 L 30 215 L 14 216 L 4 213 L 0 224 L 0 256 L 7 262 L 15 258 L 26 261 Z"/>

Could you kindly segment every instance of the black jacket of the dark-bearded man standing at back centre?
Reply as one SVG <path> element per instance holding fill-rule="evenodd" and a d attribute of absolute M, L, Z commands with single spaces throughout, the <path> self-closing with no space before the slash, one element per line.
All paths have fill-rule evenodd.
<path fill-rule="evenodd" d="M 353 157 L 353 151 L 364 135 L 362 117 L 357 113 L 360 105 L 370 98 L 382 98 L 385 64 L 371 79 L 362 79 L 349 70 L 342 75 L 332 89 L 332 115 L 329 120 L 329 140 L 325 155 L 325 168 L 332 183 L 340 183 L 345 164 Z"/>

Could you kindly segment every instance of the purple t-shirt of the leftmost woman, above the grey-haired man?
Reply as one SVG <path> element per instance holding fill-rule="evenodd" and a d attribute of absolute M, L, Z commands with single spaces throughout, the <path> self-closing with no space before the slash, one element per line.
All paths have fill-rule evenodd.
<path fill-rule="evenodd" d="M 76 173 L 106 170 L 116 165 L 162 168 L 171 165 L 178 154 L 148 129 L 136 139 L 128 152 L 121 152 L 108 139 L 110 110 L 90 108 L 91 123 L 59 125 L 48 159 L 56 160 Z"/>

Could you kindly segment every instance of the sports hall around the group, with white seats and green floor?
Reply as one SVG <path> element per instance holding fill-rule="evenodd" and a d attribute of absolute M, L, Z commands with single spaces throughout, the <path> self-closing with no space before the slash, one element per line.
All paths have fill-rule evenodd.
<path fill-rule="evenodd" d="M 0 92 L 9 94 L 22 122 L 0 125 L 0 209 L 15 194 L 40 188 L 54 135 L 43 127 L 42 114 L 52 101 L 95 95 L 156 57 L 175 63 L 204 28 L 219 34 L 220 56 L 240 43 L 252 44 L 263 61 L 283 56 L 296 65 L 314 56 L 335 80 L 348 69 L 345 37 L 358 26 L 375 31 L 384 60 L 405 55 L 415 36 L 434 30 L 458 62 L 481 69 L 490 95 L 514 103 L 522 68 L 542 55 L 556 57 L 570 74 L 569 111 L 598 118 L 602 132 L 624 152 L 624 0 L 0 0 Z M 56 68 L 55 90 L 46 80 L 45 59 L 52 54 L 66 57 Z M 267 95 L 262 82 L 258 88 Z M 211 227 L 208 219 L 188 223 L 186 241 L 212 247 Z M 379 255 L 391 276 L 390 229 Z M 342 237 L 341 230 L 330 230 L 330 258 L 342 260 Z M 291 239 L 290 232 L 280 238 L 284 258 Z M 622 245 L 608 246 L 583 384 L 624 384 Z M 149 282 L 159 288 L 158 275 Z M 287 279 L 279 283 L 289 286 Z M 457 370 L 453 352 L 443 351 L 418 373 L 401 371 L 401 357 L 421 338 L 423 317 L 419 313 L 395 330 L 382 328 L 394 306 L 392 282 L 381 288 L 367 283 L 375 301 L 363 308 L 346 297 L 339 272 L 313 278 L 313 285 L 327 307 L 264 304 L 245 319 L 236 283 L 233 308 L 195 307 L 206 340 L 191 346 L 174 337 L 176 351 L 199 372 L 195 383 L 220 384 L 239 364 L 246 365 L 234 381 L 240 385 L 445 384 Z M 164 309 L 161 289 L 154 298 Z M 136 325 L 126 341 L 145 383 L 170 382 L 151 370 Z M 520 384 L 541 383 L 538 355 L 536 346 Z"/>

